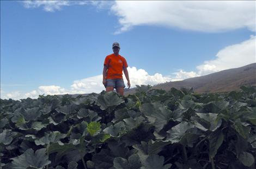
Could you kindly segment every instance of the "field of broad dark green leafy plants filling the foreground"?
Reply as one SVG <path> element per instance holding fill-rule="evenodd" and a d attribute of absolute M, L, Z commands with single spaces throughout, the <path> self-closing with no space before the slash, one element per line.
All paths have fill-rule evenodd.
<path fill-rule="evenodd" d="M 1 99 L 1 168 L 255 168 L 256 87 Z"/>

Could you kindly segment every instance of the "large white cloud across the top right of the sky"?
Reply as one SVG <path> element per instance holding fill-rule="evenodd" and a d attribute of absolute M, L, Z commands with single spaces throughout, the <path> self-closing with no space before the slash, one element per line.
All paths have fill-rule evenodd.
<path fill-rule="evenodd" d="M 162 25 L 217 32 L 239 28 L 255 31 L 254 1 L 115 1 L 119 17 L 116 34 L 137 25 Z"/>

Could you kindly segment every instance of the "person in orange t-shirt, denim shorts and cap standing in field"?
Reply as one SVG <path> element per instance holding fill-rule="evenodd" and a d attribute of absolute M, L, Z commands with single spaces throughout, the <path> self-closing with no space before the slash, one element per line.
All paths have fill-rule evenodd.
<path fill-rule="evenodd" d="M 104 61 L 102 83 L 106 87 L 106 92 L 113 91 L 115 88 L 117 90 L 117 93 L 123 96 L 125 88 L 123 80 L 123 70 L 127 79 L 127 86 L 128 88 L 131 87 L 127 70 L 128 65 L 125 58 L 119 55 L 119 43 L 113 43 L 112 49 L 113 54 L 106 56 Z"/>

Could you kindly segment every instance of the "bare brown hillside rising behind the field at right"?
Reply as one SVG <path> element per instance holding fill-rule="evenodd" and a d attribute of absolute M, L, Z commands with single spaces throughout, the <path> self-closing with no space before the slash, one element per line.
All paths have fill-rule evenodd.
<path fill-rule="evenodd" d="M 193 77 L 182 81 L 161 83 L 153 89 L 169 90 L 175 88 L 191 88 L 197 93 L 230 92 L 239 90 L 243 85 L 256 86 L 256 63 L 240 68 L 222 70 L 205 76 Z M 135 93 L 135 88 L 125 90 L 125 95 Z"/>

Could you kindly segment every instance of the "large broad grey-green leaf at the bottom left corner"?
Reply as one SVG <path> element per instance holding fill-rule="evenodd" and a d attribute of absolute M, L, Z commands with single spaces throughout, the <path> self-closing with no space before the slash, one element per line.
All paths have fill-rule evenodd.
<path fill-rule="evenodd" d="M 29 148 L 25 153 L 18 157 L 11 158 L 13 160 L 13 169 L 26 169 L 27 167 L 37 167 L 42 169 L 44 166 L 51 163 L 46 155 L 46 148 L 36 150 L 35 153 L 32 148 Z"/>

